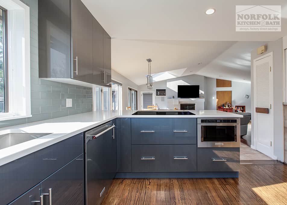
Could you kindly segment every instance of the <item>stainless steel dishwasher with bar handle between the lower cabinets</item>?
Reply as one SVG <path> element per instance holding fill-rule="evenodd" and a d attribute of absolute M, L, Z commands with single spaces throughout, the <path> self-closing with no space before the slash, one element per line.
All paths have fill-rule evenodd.
<path fill-rule="evenodd" d="M 86 204 L 100 204 L 117 169 L 115 125 L 108 122 L 85 133 Z"/>

